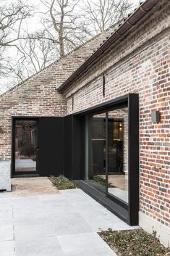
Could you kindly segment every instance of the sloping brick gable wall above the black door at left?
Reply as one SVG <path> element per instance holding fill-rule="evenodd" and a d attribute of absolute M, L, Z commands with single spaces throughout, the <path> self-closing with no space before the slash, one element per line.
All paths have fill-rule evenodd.
<path fill-rule="evenodd" d="M 114 27 L 59 59 L 0 96 L 0 160 L 11 159 L 12 116 L 66 115 L 64 96 L 56 90 L 96 50 Z"/>

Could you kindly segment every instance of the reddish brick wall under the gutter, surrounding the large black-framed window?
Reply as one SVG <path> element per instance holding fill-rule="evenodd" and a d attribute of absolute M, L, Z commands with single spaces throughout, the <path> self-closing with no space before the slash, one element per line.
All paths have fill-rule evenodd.
<path fill-rule="evenodd" d="M 169 32 L 170 3 L 159 1 L 152 15 L 146 15 L 64 91 L 67 114 L 128 93 L 139 94 L 140 211 L 165 226 L 170 226 Z M 106 75 L 105 97 L 102 73 Z M 151 122 L 153 110 L 161 112 L 160 123 Z"/>

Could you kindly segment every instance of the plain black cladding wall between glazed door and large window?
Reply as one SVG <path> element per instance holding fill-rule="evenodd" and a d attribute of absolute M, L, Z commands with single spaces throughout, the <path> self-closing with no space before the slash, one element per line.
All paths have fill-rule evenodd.
<path fill-rule="evenodd" d="M 40 176 L 82 178 L 83 117 L 40 117 L 38 173 Z"/>

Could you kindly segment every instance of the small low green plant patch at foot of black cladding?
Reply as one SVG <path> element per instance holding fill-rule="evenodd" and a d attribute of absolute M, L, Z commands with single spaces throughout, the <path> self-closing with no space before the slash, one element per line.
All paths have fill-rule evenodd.
<path fill-rule="evenodd" d="M 73 181 L 69 181 L 68 178 L 60 175 L 60 176 L 51 176 L 49 178 L 54 186 L 56 186 L 57 189 L 77 189 L 76 184 Z"/>

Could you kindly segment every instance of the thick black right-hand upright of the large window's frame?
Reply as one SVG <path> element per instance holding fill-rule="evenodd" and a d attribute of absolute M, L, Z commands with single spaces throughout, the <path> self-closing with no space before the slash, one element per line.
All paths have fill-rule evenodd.
<path fill-rule="evenodd" d="M 139 212 L 139 96 L 128 99 L 129 225 L 138 225 Z"/>

